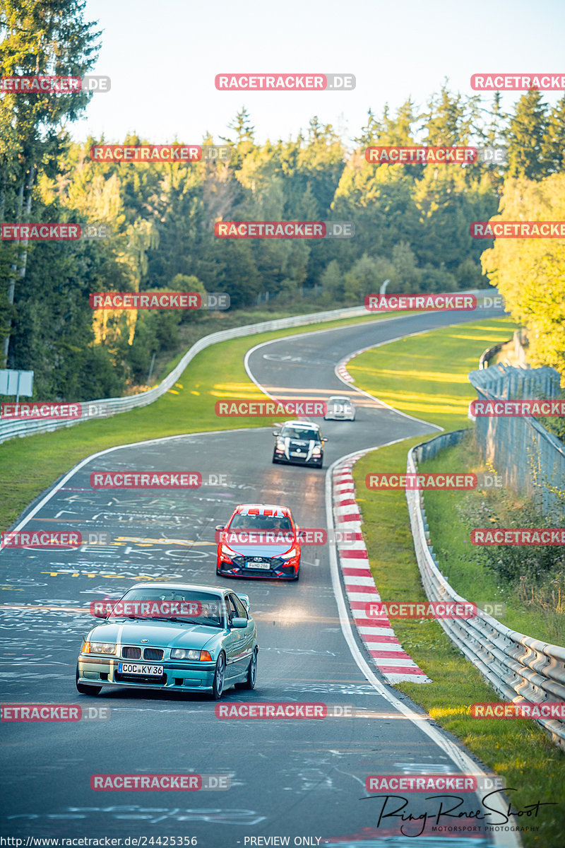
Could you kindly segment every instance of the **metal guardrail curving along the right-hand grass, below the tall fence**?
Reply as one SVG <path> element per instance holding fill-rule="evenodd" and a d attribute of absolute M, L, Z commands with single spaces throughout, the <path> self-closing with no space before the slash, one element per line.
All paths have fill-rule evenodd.
<path fill-rule="evenodd" d="M 438 450 L 456 444 L 466 430 L 441 433 L 408 451 L 407 473 L 418 471 L 418 461 L 429 459 Z M 407 489 L 408 512 L 414 549 L 422 583 L 429 600 L 467 601 L 452 589 L 440 572 L 439 563 L 429 547 L 429 533 L 423 493 Z M 561 701 L 565 703 L 565 648 L 547 644 L 510 630 L 496 618 L 479 610 L 468 619 L 439 619 L 441 627 L 459 650 L 491 683 L 504 700 Z M 565 749 L 565 721 L 540 718 L 556 745 Z"/>

